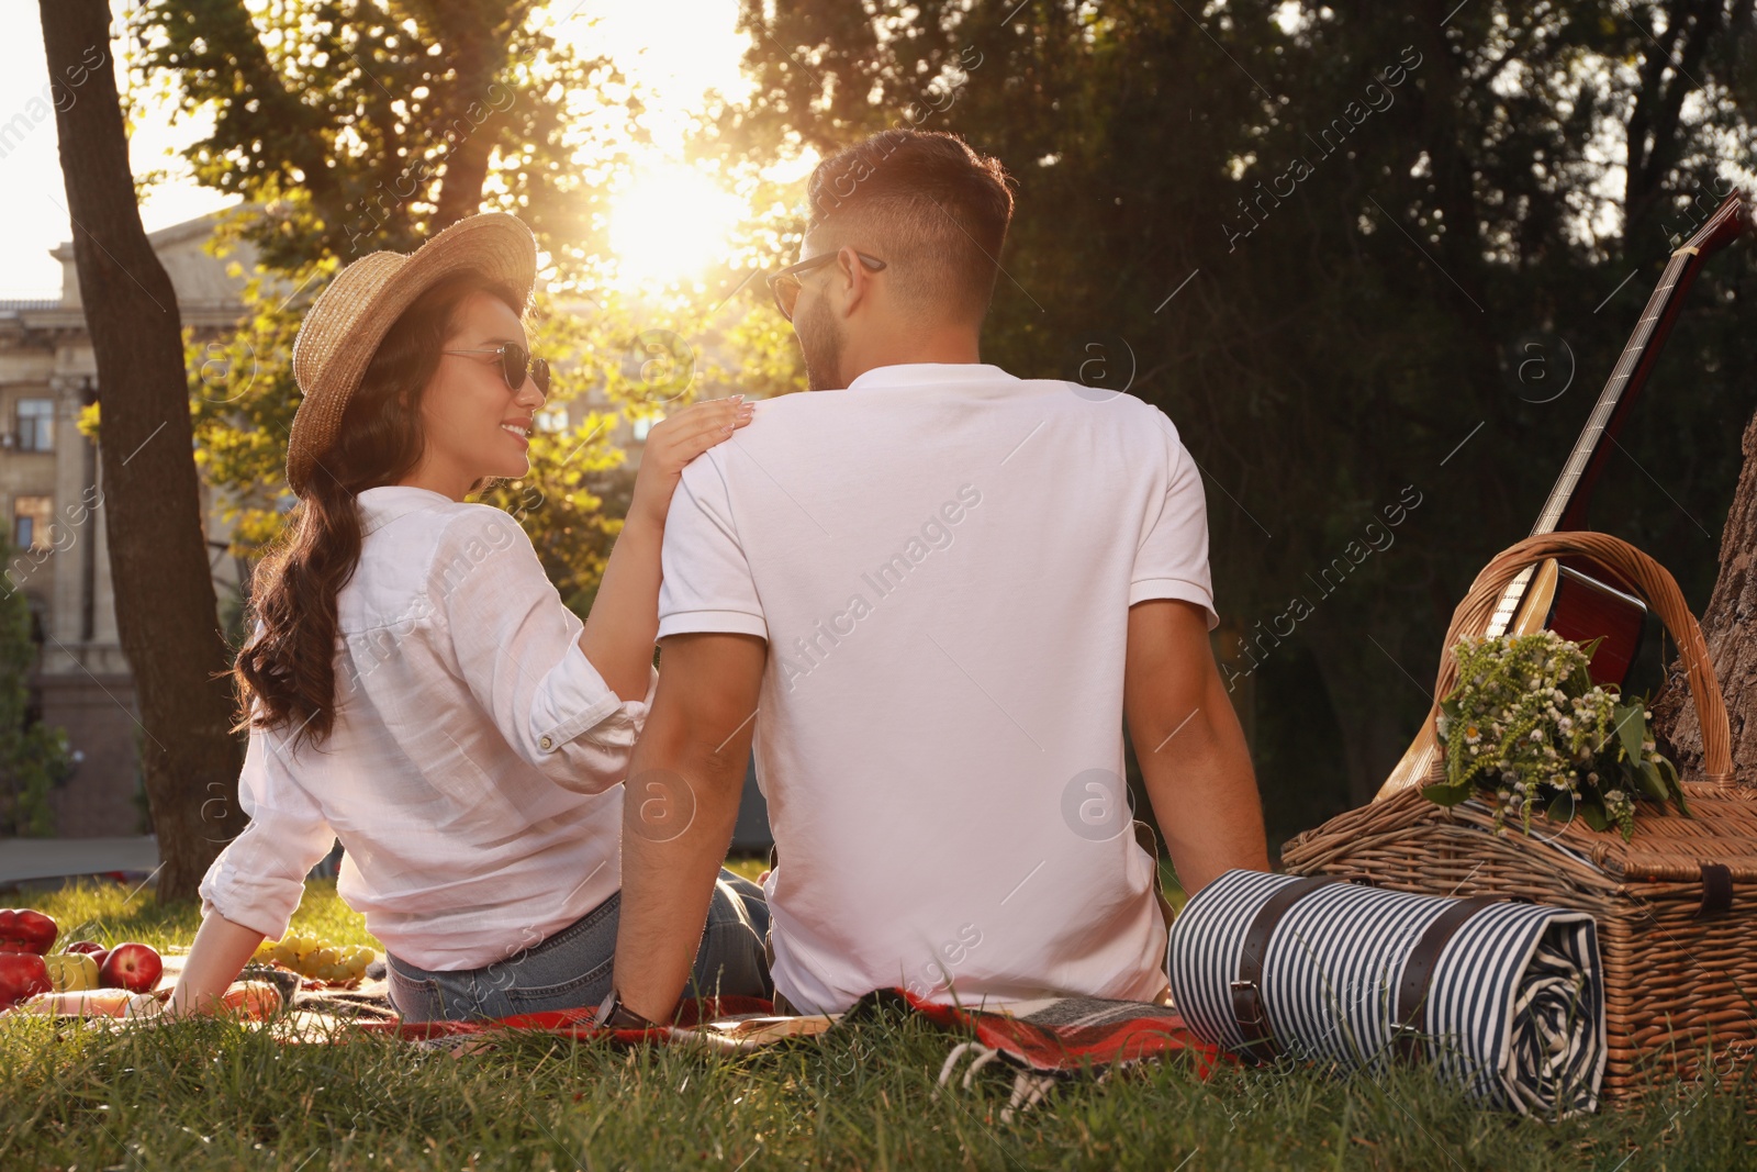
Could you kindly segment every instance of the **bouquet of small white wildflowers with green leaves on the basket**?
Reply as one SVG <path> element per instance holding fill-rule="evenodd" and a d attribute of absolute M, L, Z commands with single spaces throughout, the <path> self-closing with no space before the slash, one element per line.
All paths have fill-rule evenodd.
<path fill-rule="evenodd" d="M 1446 780 L 1421 792 L 1444 807 L 1493 792 L 1497 833 L 1509 814 L 1530 833 L 1537 808 L 1558 822 L 1578 814 L 1592 829 L 1615 824 L 1627 842 L 1638 798 L 1671 798 L 1688 815 L 1678 770 L 1648 736 L 1653 713 L 1592 682 L 1594 648 L 1597 640 L 1581 647 L 1553 631 L 1458 640 L 1458 685 L 1435 724 Z"/>

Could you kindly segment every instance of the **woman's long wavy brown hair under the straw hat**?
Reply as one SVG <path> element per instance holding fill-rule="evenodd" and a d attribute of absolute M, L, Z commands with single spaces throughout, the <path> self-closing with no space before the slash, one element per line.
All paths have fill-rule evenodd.
<path fill-rule="evenodd" d="M 336 712 L 336 597 L 360 564 L 355 497 L 401 481 L 420 462 L 422 401 L 457 311 L 476 292 L 524 315 L 517 290 L 459 272 L 422 292 L 378 344 L 336 441 L 316 459 L 304 497 L 251 580 L 251 613 L 262 629 L 249 624 L 253 634 L 232 668 L 239 694 L 234 733 L 292 726 L 293 750 L 300 738 L 329 738 Z M 483 483 L 478 480 L 471 490 Z"/>

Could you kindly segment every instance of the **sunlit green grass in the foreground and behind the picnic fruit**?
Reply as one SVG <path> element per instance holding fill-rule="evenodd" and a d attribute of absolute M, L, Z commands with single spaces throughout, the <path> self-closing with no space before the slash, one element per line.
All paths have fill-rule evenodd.
<path fill-rule="evenodd" d="M 186 945 L 192 905 L 77 887 L 33 900 L 116 942 Z M 365 942 L 334 884 L 299 924 Z M 348 935 L 353 933 L 353 935 Z M 870 1021 L 736 1058 L 510 1035 L 453 1056 L 383 1038 L 290 1045 L 223 1021 L 0 1023 L 0 1168 L 1739 1168 L 1743 1088 L 1543 1123 L 1483 1112 L 1425 1072 L 1370 1079 L 1182 1063 L 1075 1081 L 1001 1123 L 1000 1063 L 935 1075 L 954 1040 Z M 1188 1161 L 1188 1163 L 1184 1163 Z"/>

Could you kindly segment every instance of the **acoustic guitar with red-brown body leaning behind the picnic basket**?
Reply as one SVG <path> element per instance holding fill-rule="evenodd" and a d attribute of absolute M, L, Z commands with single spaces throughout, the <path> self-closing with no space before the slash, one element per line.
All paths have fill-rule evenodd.
<path fill-rule="evenodd" d="M 1666 272 L 1648 299 L 1646 311 L 1636 323 L 1629 346 L 1616 360 L 1616 369 L 1599 392 L 1599 402 L 1587 418 L 1585 430 L 1574 441 L 1574 450 L 1562 466 L 1562 474 L 1544 501 L 1543 513 L 1532 534 L 1567 529 L 1587 529 L 1587 503 L 1604 471 L 1616 432 L 1629 416 L 1629 408 L 1646 385 L 1653 362 L 1671 334 L 1683 295 L 1697 271 L 1711 255 L 1732 242 L 1750 227 L 1750 206 L 1732 192 L 1715 209 L 1701 228 L 1690 235 L 1666 262 Z M 1597 684 L 1623 684 L 1636 652 L 1641 648 L 1641 627 L 1646 604 L 1636 597 L 1609 569 L 1590 559 L 1550 559 L 1527 568 L 1508 585 L 1493 615 L 1479 634 L 1530 634 L 1550 629 L 1565 640 L 1585 643 L 1602 636 L 1592 655 L 1592 678 Z M 1439 698 L 1435 698 L 1439 699 Z M 1392 794 L 1420 785 L 1439 759 L 1439 740 L 1434 736 L 1434 713 L 1421 724 L 1421 733 L 1404 752 L 1397 768 L 1374 796 L 1383 801 Z"/>

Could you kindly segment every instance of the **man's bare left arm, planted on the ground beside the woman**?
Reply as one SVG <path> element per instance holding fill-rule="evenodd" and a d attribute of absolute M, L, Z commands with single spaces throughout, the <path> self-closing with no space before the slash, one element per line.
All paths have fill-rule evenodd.
<path fill-rule="evenodd" d="M 659 647 L 659 689 L 622 810 L 615 984 L 631 1010 L 668 1021 L 733 842 L 768 643 L 703 633 Z"/>

